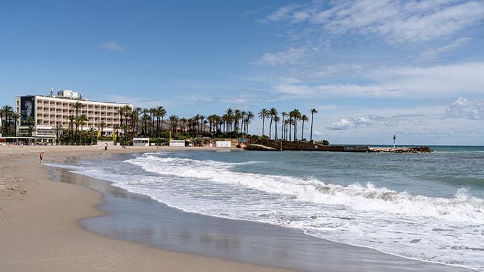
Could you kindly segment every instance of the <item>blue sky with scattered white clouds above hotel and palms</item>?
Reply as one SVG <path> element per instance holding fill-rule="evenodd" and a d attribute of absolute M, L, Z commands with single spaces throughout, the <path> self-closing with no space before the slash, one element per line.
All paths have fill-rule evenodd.
<path fill-rule="evenodd" d="M 483 48 L 482 0 L 6 0 L 0 105 L 54 88 L 178 117 L 316 108 L 331 144 L 484 145 Z"/>

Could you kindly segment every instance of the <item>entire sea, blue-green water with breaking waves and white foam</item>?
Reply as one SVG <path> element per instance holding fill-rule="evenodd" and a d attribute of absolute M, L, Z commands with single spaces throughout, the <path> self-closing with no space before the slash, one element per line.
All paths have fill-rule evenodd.
<path fill-rule="evenodd" d="M 433 149 L 168 151 L 62 167 L 183 211 L 484 271 L 484 147 Z"/>

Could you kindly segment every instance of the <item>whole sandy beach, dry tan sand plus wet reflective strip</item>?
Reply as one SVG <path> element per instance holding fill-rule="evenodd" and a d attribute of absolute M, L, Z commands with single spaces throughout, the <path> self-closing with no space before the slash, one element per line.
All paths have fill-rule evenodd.
<path fill-rule="evenodd" d="M 185 213 L 109 182 L 39 164 L 41 151 L 49 164 L 161 150 L 179 148 L 0 146 L 2 270 L 464 270 L 329 242 L 295 229 Z"/>

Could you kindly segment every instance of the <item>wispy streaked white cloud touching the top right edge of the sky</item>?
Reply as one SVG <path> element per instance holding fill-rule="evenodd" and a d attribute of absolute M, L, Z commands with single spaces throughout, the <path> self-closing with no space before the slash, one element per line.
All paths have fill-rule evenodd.
<path fill-rule="evenodd" d="M 266 20 L 307 21 L 322 25 L 333 35 L 373 34 L 395 44 L 449 37 L 482 23 L 484 17 L 483 1 L 355 0 L 330 5 L 286 6 L 272 12 Z"/>

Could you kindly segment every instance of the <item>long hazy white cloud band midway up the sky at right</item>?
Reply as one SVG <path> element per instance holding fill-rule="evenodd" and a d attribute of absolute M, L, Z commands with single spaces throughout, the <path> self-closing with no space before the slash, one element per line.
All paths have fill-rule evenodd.
<path fill-rule="evenodd" d="M 484 88 L 484 62 L 447 66 L 390 67 L 368 71 L 371 84 L 319 84 L 281 82 L 274 91 L 312 98 L 333 97 L 410 97 L 481 94 Z"/>

